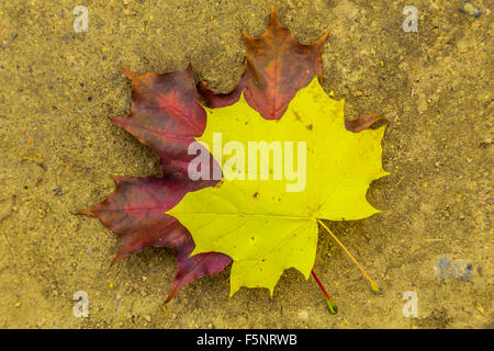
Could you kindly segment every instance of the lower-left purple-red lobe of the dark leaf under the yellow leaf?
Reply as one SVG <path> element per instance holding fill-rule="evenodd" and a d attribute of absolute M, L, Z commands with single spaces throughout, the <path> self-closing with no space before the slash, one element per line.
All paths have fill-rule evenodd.
<path fill-rule="evenodd" d="M 157 177 L 114 177 L 115 191 L 103 202 L 82 212 L 96 216 L 121 236 L 115 261 L 145 246 L 175 250 L 178 272 L 171 285 L 170 299 L 186 284 L 205 274 L 220 273 L 231 258 L 222 253 L 200 253 L 189 258 L 194 242 L 189 231 L 165 212 L 173 207 L 190 185 Z"/>

